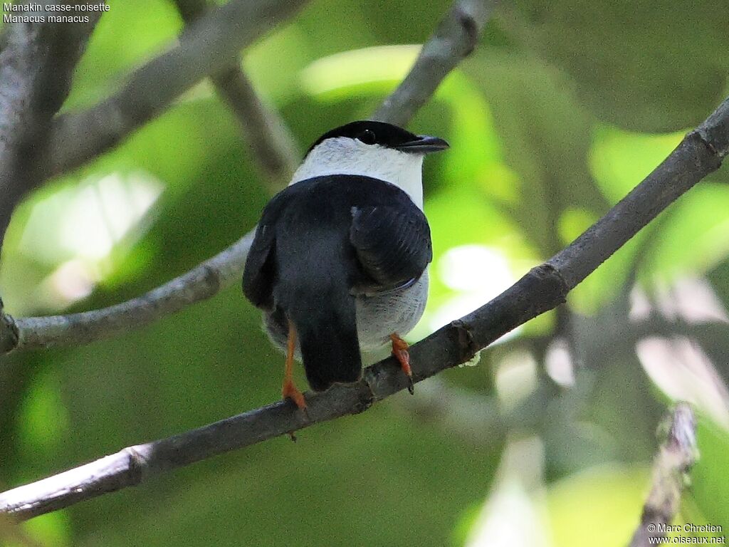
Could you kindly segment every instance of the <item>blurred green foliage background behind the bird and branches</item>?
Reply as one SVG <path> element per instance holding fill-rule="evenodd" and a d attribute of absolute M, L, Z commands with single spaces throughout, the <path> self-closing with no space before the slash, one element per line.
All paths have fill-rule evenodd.
<path fill-rule="evenodd" d="M 109 4 L 65 110 L 108 96 L 183 26 L 167 0 Z M 303 151 L 370 115 L 448 7 L 315 0 L 244 66 Z M 409 126 L 451 142 L 426 160 L 432 287 L 411 341 L 572 241 L 712 112 L 729 91 L 728 20 L 709 0 L 503 2 Z M 695 403 L 701 459 L 677 523 L 726 532 L 728 179 L 709 176 L 566 306 L 415 397 L 23 529 L 61 547 L 620 546 L 639 521 L 658 424 L 681 399 Z M 17 209 L 0 265 L 6 311 L 139 295 L 241 237 L 268 198 L 235 118 L 200 83 Z M 14 354 L 0 366 L 0 487 L 262 406 L 281 371 L 238 286 L 120 338 Z"/>

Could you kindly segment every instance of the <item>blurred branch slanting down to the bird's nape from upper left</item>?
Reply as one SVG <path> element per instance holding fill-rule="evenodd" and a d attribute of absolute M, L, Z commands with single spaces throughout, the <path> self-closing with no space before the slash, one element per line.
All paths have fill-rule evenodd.
<path fill-rule="evenodd" d="M 182 19 L 189 26 L 208 10 L 206 0 L 176 0 Z M 241 59 L 211 74 L 218 95 L 238 119 L 243 140 L 267 179 L 270 190 L 284 187 L 300 162 L 296 140 L 278 112 L 266 105 L 241 70 Z"/>

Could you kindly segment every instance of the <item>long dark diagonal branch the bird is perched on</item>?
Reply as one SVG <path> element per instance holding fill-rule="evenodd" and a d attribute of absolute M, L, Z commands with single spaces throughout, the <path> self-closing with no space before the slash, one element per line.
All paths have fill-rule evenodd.
<path fill-rule="evenodd" d="M 471 359 L 476 352 L 529 319 L 564 302 L 567 293 L 679 195 L 719 168 L 729 152 L 729 99 L 604 217 L 533 268 L 512 287 L 410 348 L 413 380 Z M 406 387 L 392 357 L 364 369 L 362 379 L 308 395 L 308 415 L 281 401 L 117 454 L 0 494 L 0 512 L 19 519 L 139 484 L 157 473 L 240 449 L 287 432 L 357 414 Z"/>

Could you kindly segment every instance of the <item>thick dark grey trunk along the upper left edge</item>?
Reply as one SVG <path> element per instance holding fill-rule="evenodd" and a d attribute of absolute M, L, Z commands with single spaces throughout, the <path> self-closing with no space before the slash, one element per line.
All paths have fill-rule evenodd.
<path fill-rule="evenodd" d="M 74 67 L 101 15 L 87 13 L 88 23 L 7 26 L 0 53 L 0 241 L 13 209 L 41 179 L 51 118 L 69 94 Z"/>

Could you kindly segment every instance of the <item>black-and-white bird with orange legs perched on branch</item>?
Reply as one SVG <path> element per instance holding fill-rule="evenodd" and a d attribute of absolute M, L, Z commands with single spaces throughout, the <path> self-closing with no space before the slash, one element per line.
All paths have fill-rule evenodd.
<path fill-rule="evenodd" d="M 424 156 L 439 137 L 359 120 L 314 141 L 291 182 L 262 211 L 243 269 L 243 293 L 286 353 L 281 395 L 305 410 L 311 389 L 362 377 L 362 353 L 391 348 L 413 392 L 408 344 L 421 318 L 432 261 L 423 212 Z"/>

